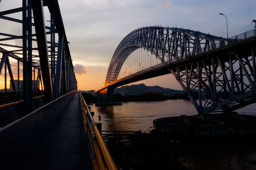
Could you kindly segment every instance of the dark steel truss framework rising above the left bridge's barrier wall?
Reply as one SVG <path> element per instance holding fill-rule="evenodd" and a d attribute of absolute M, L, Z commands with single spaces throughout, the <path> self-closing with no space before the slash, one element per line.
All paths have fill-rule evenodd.
<path fill-rule="evenodd" d="M 39 86 L 44 88 L 45 99 L 49 102 L 76 90 L 77 81 L 58 1 L 22 0 L 21 2 L 22 7 L 0 12 L 1 22 L 6 24 L 6 27 L 12 24 L 20 25 L 16 29 L 22 31 L 19 35 L 13 32 L 0 32 L 0 52 L 3 54 L 0 71 L 4 66 L 6 91 L 6 66 L 8 67 L 12 90 L 23 94 L 24 111 L 28 113 L 31 111 L 29 103 L 33 97 L 33 90 Z M 44 7 L 49 10 L 47 10 L 49 13 L 47 16 L 51 16 L 49 20 L 45 20 L 47 16 Z M 22 19 L 13 17 L 20 14 Z M 16 68 L 12 63 L 10 64 L 10 57 L 17 60 Z M 13 69 L 17 70 L 18 83 L 15 83 Z M 20 78 L 20 69 L 22 69 L 22 78 Z"/>

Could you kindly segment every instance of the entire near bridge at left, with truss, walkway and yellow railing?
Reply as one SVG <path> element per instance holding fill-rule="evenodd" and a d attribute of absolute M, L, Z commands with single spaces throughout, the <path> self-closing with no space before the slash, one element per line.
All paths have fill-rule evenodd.
<path fill-rule="evenodd" d="M 23 95 L 23 101 L 0 105 L 1 169 L 116 169 L 100 136 L 99 124 L 93 120 L 83 97 L 79 103 L 58 0 L 20 2 L 22 7 L 0 12 L 1 26 L 8 25 L 9 31 L 0 32 L 0 41 L 4 41 L 0 43 L 4 46 L 0 47 L 0 67 L 2 70 L 4 66 L 5 83 L 0 99 L 8 91 Z M 22 27 L 12 31 L 10 23 Z M 19 31 L 22 34 L 16 35 Z M 14 80 L 16 75 L 18 81 Z M 38 87 L 44 89 L 44 106 L 42 96 L 32 94 Z M 34 101 L 35 107 L 32 99 L 38 100 Z M 19 114 L 21 104 L 23 115 Z"/>

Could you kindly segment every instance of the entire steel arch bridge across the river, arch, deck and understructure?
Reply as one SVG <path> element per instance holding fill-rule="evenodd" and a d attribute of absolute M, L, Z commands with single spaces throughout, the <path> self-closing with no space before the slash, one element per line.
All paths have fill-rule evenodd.
<path fill-rule="evenodd" d="M 137 29 L 116 48 L 105 86 L 96 92 L 108 98 L 120 85 L 172 73 L 198 113 L 237 110 L 256 102 L 255 36 L 255 30 L 223 39 L 188 29 Z M 154 53 L 161 64 L 117 80 L 125 59 L 138 48 Z"/>

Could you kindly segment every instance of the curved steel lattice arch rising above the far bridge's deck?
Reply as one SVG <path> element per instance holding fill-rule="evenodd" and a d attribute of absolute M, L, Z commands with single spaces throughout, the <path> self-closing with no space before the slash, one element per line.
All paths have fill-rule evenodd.
<path fill-rule="evenodd" d="M 226 42 L 227 43 L 227 42 Z M 105 85 L 118 78 L 127 57 L 143 48 L 163 64 L 186 59 L 225 45 L 225 39 L 199 31 L 174 27 L 142 27 L 125 36 L 109 64 Z"/>

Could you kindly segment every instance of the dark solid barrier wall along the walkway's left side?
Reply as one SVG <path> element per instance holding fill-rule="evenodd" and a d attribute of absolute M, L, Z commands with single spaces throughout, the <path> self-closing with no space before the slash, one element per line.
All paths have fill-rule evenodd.
<path fill-rule="evenodd" d="M 0 169 L 28 169 L 76 92 L 68 92 L 0 128 Z"/>

